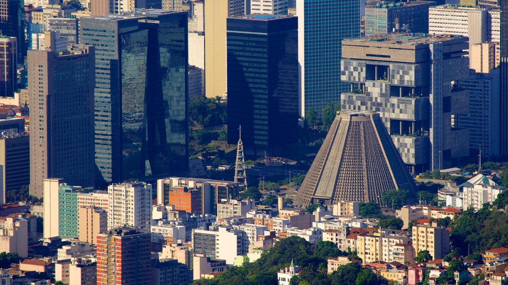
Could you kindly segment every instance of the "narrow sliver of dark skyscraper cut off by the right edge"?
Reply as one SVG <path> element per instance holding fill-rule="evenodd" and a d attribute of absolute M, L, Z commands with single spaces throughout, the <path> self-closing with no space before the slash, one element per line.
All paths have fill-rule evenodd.
<path fill-rule="evenodd" d="M 508 0 L 501 0 L 501 156 L 508 157 Z"/>

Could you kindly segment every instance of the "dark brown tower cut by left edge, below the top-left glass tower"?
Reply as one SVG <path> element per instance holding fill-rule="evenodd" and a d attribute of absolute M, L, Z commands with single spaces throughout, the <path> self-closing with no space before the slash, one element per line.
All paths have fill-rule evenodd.
<path fill-rule="evenodd" d="M 5 2 L 10 3 L 8 0 L 5 0 Z M 2 6 L 1 2 L 0 6 Z M 0 19 L 1 25 L 2 19 Z M 0 57 L 0 97 L 14 97 L 18 85 L 16 37 L 8 37 L 2 33 L 0 36 L 0 55 L 2 55 Z"/>

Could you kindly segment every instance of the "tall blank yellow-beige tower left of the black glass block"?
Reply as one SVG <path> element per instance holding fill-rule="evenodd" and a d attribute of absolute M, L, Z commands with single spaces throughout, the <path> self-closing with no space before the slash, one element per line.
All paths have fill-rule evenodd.
<path fill-rule="evenodd" d="M 226 19 L 245 13 L 244 0 L 207 0 L 205 5 L 205 94 L 227 92 Z"/>

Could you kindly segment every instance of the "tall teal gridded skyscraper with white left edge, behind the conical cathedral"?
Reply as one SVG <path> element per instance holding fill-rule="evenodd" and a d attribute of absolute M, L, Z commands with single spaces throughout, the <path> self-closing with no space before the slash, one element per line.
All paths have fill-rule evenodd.
<path fill-rule="evenodd" d="M 297 0 L 300 116 L 339 103 L 341 41 L 360 37 L 360 0 Z M 207 83 L 208 84 L 208 83 Z"/>

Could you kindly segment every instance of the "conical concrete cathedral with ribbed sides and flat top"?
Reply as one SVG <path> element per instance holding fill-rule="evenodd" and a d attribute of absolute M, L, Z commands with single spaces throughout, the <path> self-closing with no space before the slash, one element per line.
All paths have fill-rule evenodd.
<path fill-rule="evenodd" d="M 382 204 L 392 189 L 414 195 L 416 185 L 379 114 L 337 113 L 296 194 L 294 204 L 335 204 L 341 200 Z"/>

